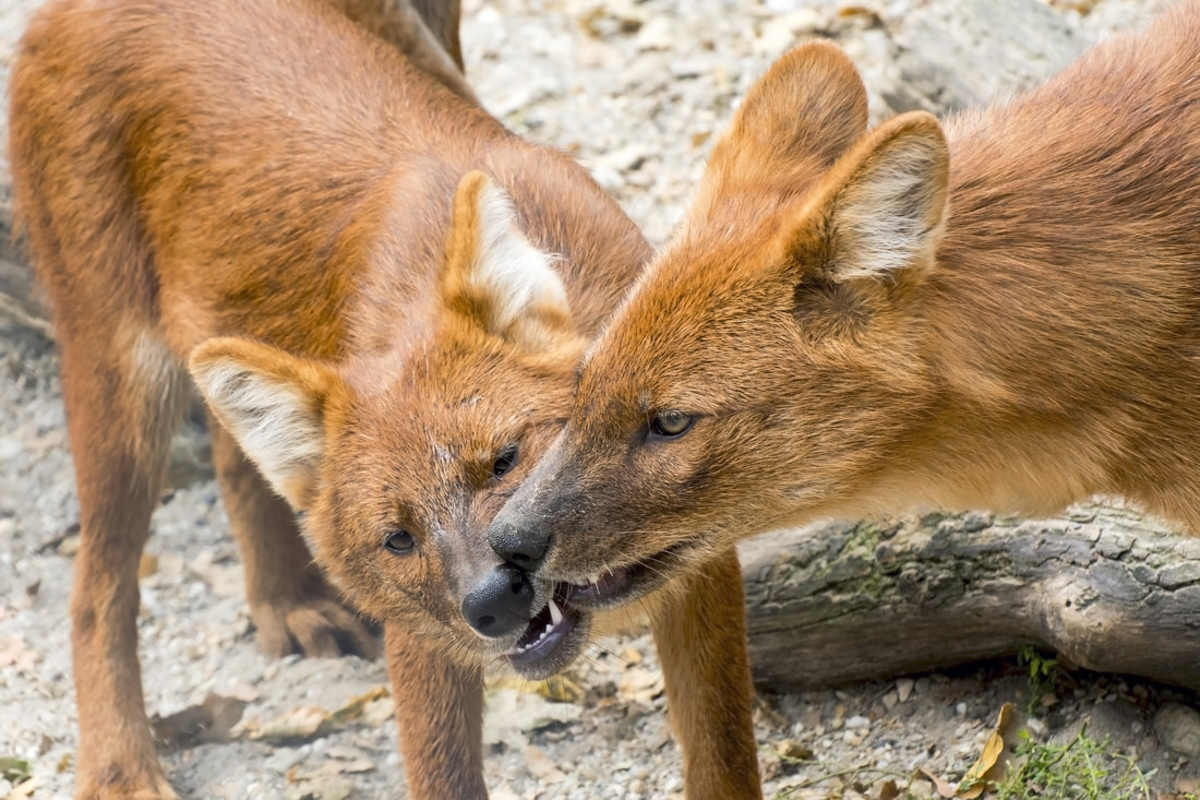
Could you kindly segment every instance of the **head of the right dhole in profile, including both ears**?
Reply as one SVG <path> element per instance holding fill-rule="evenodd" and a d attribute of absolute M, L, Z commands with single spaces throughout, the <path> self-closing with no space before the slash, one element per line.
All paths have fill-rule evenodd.
<path fill-rule="evenodd" d="M 563 432 L 493 520 L 500 555 L 574 607 L 628 603 L 838 507 L 920 424 L 947 147 L 928 114 L 865 127 L 862 83 L 827 44 L 750 90 L 683 229 L 586 356 Z"/>

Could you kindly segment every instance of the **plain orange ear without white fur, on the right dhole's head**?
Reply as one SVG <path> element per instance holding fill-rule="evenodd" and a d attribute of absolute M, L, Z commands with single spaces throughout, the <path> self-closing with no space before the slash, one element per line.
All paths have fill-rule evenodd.
<path fill-rule="evenodd" d="M 834 44 L 802 44 L 746 92 L 709 156 L 700 199 L 745 187 L 796 192 L 865 131 L 866 90 L 853 62 Z"/>

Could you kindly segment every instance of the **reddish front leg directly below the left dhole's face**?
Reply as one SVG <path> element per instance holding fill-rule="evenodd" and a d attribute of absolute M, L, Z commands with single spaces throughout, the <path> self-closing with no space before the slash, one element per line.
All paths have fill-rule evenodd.
<path fill-rule="evenodd" d="M 413 800 L 487 800 L 484 677 L 395 623 L 385 627 L 400 750 Z"/>

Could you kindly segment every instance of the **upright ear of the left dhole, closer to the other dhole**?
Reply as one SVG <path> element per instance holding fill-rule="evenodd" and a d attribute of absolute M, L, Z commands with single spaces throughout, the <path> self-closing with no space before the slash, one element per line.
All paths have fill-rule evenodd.
<path fill-rule="evenodd" d="M 454 198 L 443 297 L 484 330 L 541 353 L 577 334 L 553 257 L 516 226 L 512 202 L 491 178 L 467 173 Z"/>

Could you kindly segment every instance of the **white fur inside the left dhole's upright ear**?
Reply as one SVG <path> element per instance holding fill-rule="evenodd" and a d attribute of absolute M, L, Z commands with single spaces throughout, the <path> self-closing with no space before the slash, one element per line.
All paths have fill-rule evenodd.
<path fill-rule="evenodd" d="M 529 314 L 570 316 L 566 289 L 551 267 L 554 259 L 538 250 L 517 228 L 516 211 L 504 190 L 484 179 L 475 195 L 478 246 L 467 282 L 490 299 L 493 333 L 504 333 Z"/>

